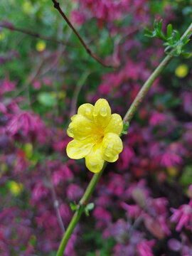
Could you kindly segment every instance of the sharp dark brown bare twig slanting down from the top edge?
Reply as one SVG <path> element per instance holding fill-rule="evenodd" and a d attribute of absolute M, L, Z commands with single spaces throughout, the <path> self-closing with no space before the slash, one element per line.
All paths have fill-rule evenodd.
<path fill-rule="evenodd" d="M 85 43 L 85 41 L 82 39 L 82 37 L 80 36 L 80 34 L 78 33 L 78 31 L 74 28 L 74 26 L 72 25 L 72 23 L 70 23 L 70 20 L 68 19 L 68 17 L 64 14 L 64 12 L 62 11 L 62 9 L 60 9 L 60 4 L 58 3 L 58 1 L 56 0 L 52 0 L 55 9 L 58 10 L 58 12 L 60 13 L 61 16 L 63 16 L 63 18 L 65 19 L 65 21 L 68 23 L 68 26 L 70 26 L 70 28 L 73 30 L 73 32 L 76 34 L 76 36 L 78 36 L 80 43 L 82 43 L 82 46 L 85 48 L 85 50 L 87 51 L 87 53 L 94 58 L 95 60 L 97 60 L 98 63 L 100 63 L 101 65 L 103 65 L 106 68 L 117 68 L 116 65 L 108 65 L 107 63 L 105 63 L 104 61 L 102 61 L 102 59 L 100 57 L 98 57 L 95 53 L 92 53 L 92 51 L 90 50 L 90 48 L 87 46 L 87 44 Z"/>

